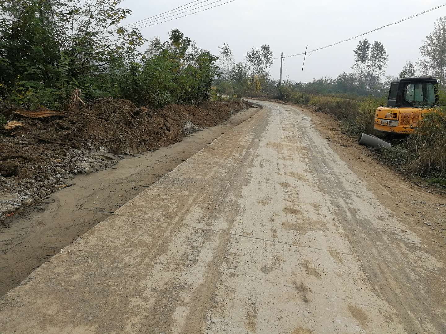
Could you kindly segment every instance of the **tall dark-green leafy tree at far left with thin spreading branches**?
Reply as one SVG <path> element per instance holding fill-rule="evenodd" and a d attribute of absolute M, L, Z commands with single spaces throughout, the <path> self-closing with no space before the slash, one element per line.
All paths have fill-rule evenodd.
<path fill-rule="evenodd" d="M 111 64 L 133 61 L 144 43 L 137 30 L 111 29 L 130 14 L 118 3 L 1 0 L 1 97 L 57 107 L 74 88 L 91 98 L 107 91 L 103 78 Z"/>

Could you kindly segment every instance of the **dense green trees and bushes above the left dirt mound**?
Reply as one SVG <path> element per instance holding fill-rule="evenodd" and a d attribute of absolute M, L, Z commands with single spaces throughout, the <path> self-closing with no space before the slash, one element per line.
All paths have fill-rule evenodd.
<path fill-rule="evenodd" d="M 120 28 L 131 11 L 118 3 L 1 0 L 1 102 L 63 110 L 76 89 L 83 102 L 111 97 L 161 107 L 208 100 L 218 58 L 178 29 L 161 42 Z"/>

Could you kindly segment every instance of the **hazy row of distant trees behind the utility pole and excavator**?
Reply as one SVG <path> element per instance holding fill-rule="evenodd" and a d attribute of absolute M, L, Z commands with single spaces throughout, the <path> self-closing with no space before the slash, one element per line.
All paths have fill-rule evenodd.
<path fill-rule="evenodd" d="M 215 81 L 218 90 L 225 94 L 234 92 L 238 95 L 280 97 L 278 82 L 269 73 L 272 57 L 266 61 L 264 50 L 269 51 L 269 46 L 252 49 L 246 54 L 244 62 L 235 63 L 229 45 L 223 44 L 219 48 L 222 76 Z M 437 20 L 434 30 L 422 41 L 421 58 L 415 64 L 408 61 L 397 76 L 385 76 L 389 56 L 380 41 L 370 42 L 363 38 L 353 49 L 353 54 L 354 64 L 350 72 L 310 82 L 293 82 L 285 78 L 282 86 L 306 94 L 353 97 L 388 94 L 390 81 L 397 77 L 433 76 L 442 86 L 446 70 L 446 17 Z"/>

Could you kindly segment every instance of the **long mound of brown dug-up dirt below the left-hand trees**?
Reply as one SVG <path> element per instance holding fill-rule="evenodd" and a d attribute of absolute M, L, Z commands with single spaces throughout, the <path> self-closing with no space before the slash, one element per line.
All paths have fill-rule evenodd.
<path fill-rule="evenodd" d="M 8 120 L 23 125 L 0 130 L 0 224 L 24 206 L 69 186 L 70 175 L 110 167 L 119 155 L 177 143 L 248 106 L 246 101 L 219 101 L 149 109 L 104 98 L 66 117 L 33 119 L 5 112 Z"/>

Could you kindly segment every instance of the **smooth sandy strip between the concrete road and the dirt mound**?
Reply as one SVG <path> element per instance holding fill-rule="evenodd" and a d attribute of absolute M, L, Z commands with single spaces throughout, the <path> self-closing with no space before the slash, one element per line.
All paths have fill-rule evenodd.
<path fill-rule="evenodd" d="M 77 175 L 69 181 L 72 186 L 48 196 L 43 205 L 10 219 L 9 228 L 0 226 L 0 295 L 110 216 L 110 212 L 257 111 L 242 111 L 227 122 L 196 132 L 180 143 L 139 158 L 128 157 L 103 171 Z"/>

